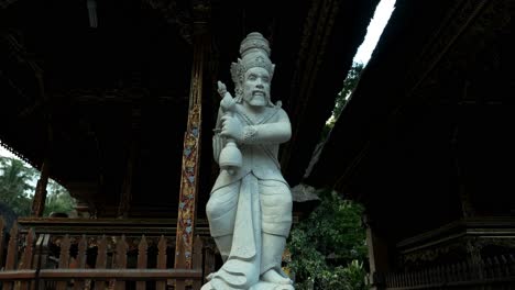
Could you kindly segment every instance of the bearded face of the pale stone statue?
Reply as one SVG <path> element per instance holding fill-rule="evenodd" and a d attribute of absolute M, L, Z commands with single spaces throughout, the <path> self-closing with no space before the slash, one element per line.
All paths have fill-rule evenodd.
<path fill-rule="evenodd" d="M 262 67 L 246 70 L 243 81 L 243 100 L 253 107 L 263 107 L 270 99 L 270 74 Z"/>

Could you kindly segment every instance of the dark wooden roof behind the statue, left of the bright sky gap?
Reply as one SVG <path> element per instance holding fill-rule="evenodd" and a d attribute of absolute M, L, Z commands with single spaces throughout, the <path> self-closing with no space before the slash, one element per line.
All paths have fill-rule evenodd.
<path fill-rule="evenodd" d="M 297 185 L 379 1 L 9 1 L 0 10 L 0 140 L 99 214 L 118 205 L 134 156 L 131 214 L 174 217 L 186 129 L 196 5 L 210 8 L 204 96 L 202 209 L 216 166 L 218 79 L 230 86 L 241 40 L 259 31 L 277 69 L 272 98 L 294 126 L 282 152 Z M 48 142 L 48 136 L 52 141 Z M 202 211 L 200 211 L 202 214 Z"/>

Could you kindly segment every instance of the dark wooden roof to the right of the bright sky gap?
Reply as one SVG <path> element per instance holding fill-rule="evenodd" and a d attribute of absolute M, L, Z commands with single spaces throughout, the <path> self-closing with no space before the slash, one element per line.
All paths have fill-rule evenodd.
<path fill-rule="evenodd" d="M 513 3 L 397 0 L 307 183 L 364 202 L 391 243 L 513 215 Z"/>

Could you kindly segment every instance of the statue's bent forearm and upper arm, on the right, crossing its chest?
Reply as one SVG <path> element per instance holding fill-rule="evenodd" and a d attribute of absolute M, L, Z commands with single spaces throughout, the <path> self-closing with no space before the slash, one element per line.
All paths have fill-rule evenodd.
<path fill-rule="evenodd" d="M 277 112 L 275 122 L 243 126 L 239 143 L 241 144 L 281 144 L 292 137 L 292 125 L 283 109 Z"/>

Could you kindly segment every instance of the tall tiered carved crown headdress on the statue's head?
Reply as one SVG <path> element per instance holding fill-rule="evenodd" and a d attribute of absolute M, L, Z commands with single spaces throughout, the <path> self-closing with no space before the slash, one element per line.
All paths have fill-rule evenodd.
<path fill-rule="evenodd" d="M 244 76 L 250 68 L 262 67 L 269 71 L 272 79 L 275 65 L 270 60 L 270 53 L 269 41 L 259 32 L 249 33 L 241 42 L 241 58 L 238 58 L 238 63 L 231 64 L 231 77 L 232 81 L 234 81 L 237 101 L 241 101 Z"/>

